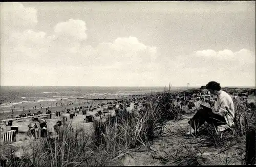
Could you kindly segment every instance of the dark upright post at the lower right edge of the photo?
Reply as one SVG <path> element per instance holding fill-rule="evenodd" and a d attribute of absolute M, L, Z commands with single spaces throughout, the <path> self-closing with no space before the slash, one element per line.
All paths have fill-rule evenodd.
<path fill-rule="evenodd" d="M 246 165 L 254 165 L 255 164 L 255 141 L 256 141 L 256 137 L 255 137 L 255 126 L 256 126 L 256 122 L 255 122 L 255 114 L 254 119 L 251 119 L 249 121 L 252 121 L 253 124 L 249 125 L 249 127 L 247 127 L 246 129 L 246 153 L 245 153 L 245 158 L 246 158 Z M 247 122 L 247 121 L 246 121 Z"/>

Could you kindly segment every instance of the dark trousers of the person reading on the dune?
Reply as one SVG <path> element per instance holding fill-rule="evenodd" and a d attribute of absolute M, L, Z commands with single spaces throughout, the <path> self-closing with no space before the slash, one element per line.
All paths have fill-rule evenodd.
<path fill-rule="evenodd" d="M 194 129 L 198 130 L 205 122 L 213 124 L 214 126 L 226 124 L 225 118 L 212 113 L 211 110 L 199 109 L 198 112 L 188 121 L 188 124 Z"/>

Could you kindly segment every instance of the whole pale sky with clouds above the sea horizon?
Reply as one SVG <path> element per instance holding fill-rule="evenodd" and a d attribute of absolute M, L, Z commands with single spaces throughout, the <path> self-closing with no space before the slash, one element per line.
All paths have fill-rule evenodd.
<path fill-rule="evenodd" d="M 1 86 L 255 86 L 255 2 L 1 3 Z"/>

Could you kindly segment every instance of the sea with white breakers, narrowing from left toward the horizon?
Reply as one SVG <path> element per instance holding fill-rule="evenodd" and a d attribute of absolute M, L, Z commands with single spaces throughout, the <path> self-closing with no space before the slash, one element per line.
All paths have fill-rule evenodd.
<path fill-rule="evenodd" d="M 32 103 L 56 102 L 76 98 L 122 98 L 134 94 L 163 92 L 168 87 L 49 87 L 49 86 L 1 86 L 1 110 Z M 187 87 L 172 87 L 185 90 Z"/>

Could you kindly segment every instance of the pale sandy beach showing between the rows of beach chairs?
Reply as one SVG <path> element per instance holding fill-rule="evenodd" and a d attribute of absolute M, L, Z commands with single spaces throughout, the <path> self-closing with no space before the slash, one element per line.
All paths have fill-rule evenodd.
<path fill-rule="evenodd" d="M 80 110 L 79 113 L 76 113 L 76 116 L 73 118 L 73 119 L 70 119 L 69 118 L 69 115 L 67 113 L 67 109 L 75 109 L 75 107 L 80 107 L 80 106 L 97 106 L 98 104 L 100 103 L 104 103 L 106 104 L 107 102 L 110 102 L 108 100 L 106 101 L 98 101 L 98 100 L 95 100 L 95 101 L 90 101 L 88 100 L 76 100 L 76 99 L 73 99 L 73 100 L 69 100 L 69 101 L 65 101 L 65 105 L 63 106 L 50 106 L 49 109 L 52 111 L 52 119 L 46 119 L 44 118 L 46 121 L 47 121 L 47 128 L 48 128 L 48 131 L 49 132 L 53 132 L 54 133 L 54 128 L 53 126 L 56 124 L 57 121 L 61 121 L 62 120 L 62 117 L 67 117 L 67 122 L 71 122 L 72 125 L 74 126 L 82 126 L 86 131 L 91 131 L 92 130 L 92 123 L 86 123 L 86 121 L 83 121 L 84 119 L 86 119 L 86 116 L 88 115 L 92 115 L 94 116 L 97 111 L 100 109 L 100 108 L 97 108 L 91 112 L 87 112 L 86 115 L 82 115 L 82 111 Z M 73 104 L 72 104 L 73 102 Z M 112 101 L 113 102 L 113 101 Z M 49 106 L 51 103 L 44 103 L 46 104 L 47 106 Z M 32 106 L 30 106 L 32 107 Z M 36 113 L 38 111 L 41 111 L 42 114 L 46 114 L 46 108 L 47 107 L 43 107 L 43 108 L 40 108 L 40 109 L 30 109 L 30 113 Z M 101 108 L 102 109 L 102 108 Z M 61 113 L 61 116 L 60 117 L 57 117 L 55 116 L 55 112 L 56 111 L 61 111 L 61 110 L 65 110 L 65 113 Z M 13 115 L 14 117 L 16 115 L 19 115 L 19 114 L 22 114 L 22 113 L 25 113 L 25 114 L 28 114 L 28 109 L 26 109 L 25 111 L 21 110 L 21 111 L 14 111 L 13 112 Z M 1 120 L 4 120 L 4 119 L 8 119 L 8 116 L 10 116 L 10 112 L 5 112 L 5 113 L 1 113 Z M 115 115 L 115 110 L 109 110 L 109 113 L 105 114 L 105 116 L 107 115 Z M 102 116 L 103 120 L 104 120 L 104 116 Z M 99 119 L 99 117 L 95 117 L 95 119 Z M 35 121 L 32 121 L 32 119 L 24 119 L 24 120 L 19 120 L 19 121 L 13 121 L 13 125 L 12 126 L 17 126 L 18 127 L 18 133 L 16 134 L 16 141 L 26 141 L 26 140 L 30 140 L 30 137 L 26 134 L 26 132 L 29 130 L 29 123 L 36 123 L 37 126 L 39 126 L 39 123 L 38 122 L 35 122 Z M 3 127 L 3 131 L 8 131 L 11 129 L 11 126 L 5 126 L 4 123 L 1 123 L 2 124 L 2 127 Z M 1 138 L 1 143 L 3 142 L 2 141 L 3 139 Z"/>

